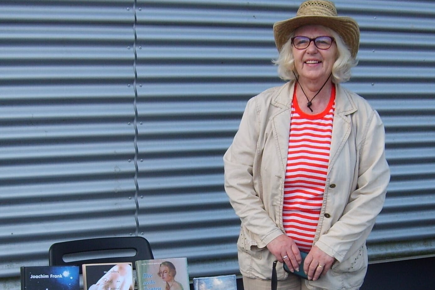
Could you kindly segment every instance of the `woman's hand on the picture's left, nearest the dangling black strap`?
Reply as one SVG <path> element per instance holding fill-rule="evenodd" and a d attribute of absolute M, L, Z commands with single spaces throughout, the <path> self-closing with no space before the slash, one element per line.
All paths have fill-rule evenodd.
<path fill-rule="evenodd" d="M 274 238 L 266 247 L 279 262 L 286 263 L 291 272 L 294 272 L 295 269 L 299 271 L 302 258 L 293 239 L 282 234 Z"/>

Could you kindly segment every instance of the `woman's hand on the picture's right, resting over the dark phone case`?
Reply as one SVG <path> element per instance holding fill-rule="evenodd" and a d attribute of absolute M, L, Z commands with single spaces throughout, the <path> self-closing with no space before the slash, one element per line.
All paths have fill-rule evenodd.
<path fill-rule="evenodd" d="M 329 256 L 318 247 L 313 246 L 304 261 L 304 272 L 309 280 L 317 280 L 320 275 L 325 275 L 332 267 L 335 258 Z"/>

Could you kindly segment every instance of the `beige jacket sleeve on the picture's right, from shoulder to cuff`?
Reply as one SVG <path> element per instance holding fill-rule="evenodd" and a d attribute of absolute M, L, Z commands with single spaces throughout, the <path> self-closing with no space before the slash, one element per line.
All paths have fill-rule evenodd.
<path fill-rule="evenodd" d="M 375 224 L 390 180 L 385 159 L 385 130 L 376 111 L 365 124 L 359 148 L 357 186 L 348 198 L 341 217 L 315 243 L 341 262 L 355 244 L 362 246 Z"/>

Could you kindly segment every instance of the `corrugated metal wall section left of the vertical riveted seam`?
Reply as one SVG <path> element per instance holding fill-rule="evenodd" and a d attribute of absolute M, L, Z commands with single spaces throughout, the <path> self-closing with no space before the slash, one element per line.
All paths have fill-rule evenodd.
<path fill-rule="evenodd" d="M 134 10 L 1 1 L 0 21 L 0 288 L 19 289 L 52 243 L 137 229 Z"/>

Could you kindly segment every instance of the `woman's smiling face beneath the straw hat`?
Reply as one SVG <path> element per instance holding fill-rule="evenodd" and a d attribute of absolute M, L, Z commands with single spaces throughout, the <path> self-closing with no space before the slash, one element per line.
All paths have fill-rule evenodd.
<path fill-rule="evenodd" d="M 319 36 L 330 36 L 328 29 L 320 25 L 306 25 L 294 31 L 294 36 L 306 36 L 315 38 Z M 300 81 L 324 81 L 332 71 L 337 59 L 337 45 L 332 43 L 331 47 L 322 50 L 318 49 L 314 41 L 305 49 L 291 47 L 294 57 L 294 67 L 299 74 Z"/>

